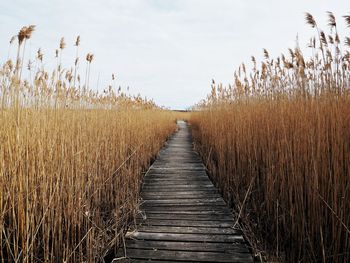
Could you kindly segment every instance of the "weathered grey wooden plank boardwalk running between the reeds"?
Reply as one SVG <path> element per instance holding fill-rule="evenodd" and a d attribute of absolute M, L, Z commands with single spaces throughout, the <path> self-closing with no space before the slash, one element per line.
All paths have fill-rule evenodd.
<path fill-rule="evenodd" d="M 136 229 L 118 257 L 131 262 L 253 262 L 233 215 L 209 180 L 185 122 L 144 178 Z"/>

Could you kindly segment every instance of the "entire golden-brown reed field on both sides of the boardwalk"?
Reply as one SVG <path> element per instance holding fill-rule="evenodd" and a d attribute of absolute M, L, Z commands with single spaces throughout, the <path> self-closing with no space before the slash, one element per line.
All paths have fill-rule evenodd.
<path fill-rule="evenodd" d="M 0 65 L 0 261 L 103 262 L 182 117 L 257 260 L 349 262 L 350 38 L 328 20 L 326 33 L 306 14 L 311 56 L 264 49 L 185 114 L 90 88 L 94 55 L 79 56 L 80 37 L 61 39 L 53 71 L 40 49 L 27 64 L 35 26 L 23 27 L 10 42 L 17 56 Z M 66 48 L 77 54 L 68 69 Z"/>

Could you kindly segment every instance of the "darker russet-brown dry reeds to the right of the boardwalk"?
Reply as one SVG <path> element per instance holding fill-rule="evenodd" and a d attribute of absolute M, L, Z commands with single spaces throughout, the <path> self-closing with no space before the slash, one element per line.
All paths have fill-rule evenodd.
<path fill-rule="evenodd" d="M 261 259 L 350 261 L 350 38 L 328 20 L 326 34 L 306 14 L 311 57 L 264 50 L 232 86 L 213 82 L 191 116 L 196 148 Z"/>

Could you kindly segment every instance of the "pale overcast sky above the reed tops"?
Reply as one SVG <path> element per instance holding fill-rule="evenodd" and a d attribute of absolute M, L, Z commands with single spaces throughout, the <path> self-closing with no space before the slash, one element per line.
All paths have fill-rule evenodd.
<path fill-rule="evenodd" d="M 231 83 L 238 65 L 261 57 L 262 48 L 279 55 L 295 46 L 297 34 L 306 47 L 313 31 L 304 13 L 326 27 L 326 11 L 336 15 L 342 37 L 349 36 L 341 17 L 350 14 L 349 0 L 1 0 L 0 61 L 11 36 L 35 24 L 27 59 L 41 47 L 46 67 L 53 67 L 64 36 L 63 62 L 70 67 L 80 35 L 80 55 L 95 55 L 91 86 L 103 89 L 115 73 L 116 84 L 133 94 L 186 108 L 209 93 L 211 79 Z"/>

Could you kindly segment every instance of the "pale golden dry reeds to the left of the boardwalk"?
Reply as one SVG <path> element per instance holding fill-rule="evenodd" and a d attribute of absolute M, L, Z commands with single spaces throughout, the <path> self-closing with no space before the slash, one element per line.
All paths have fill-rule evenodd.
<path fill-rule="evenodd" d="M 137 212 L 142 172 L 175 116 L 113 85 L 90 89 L 92 54 L 82 85 L 80 38 L 73 69 L 61 66 L 62 38 L 57 68 L 46 72 L 38 50 L 22 80 L 33 30 L 0 68 L 0 262 L 99 262 Z"/>

